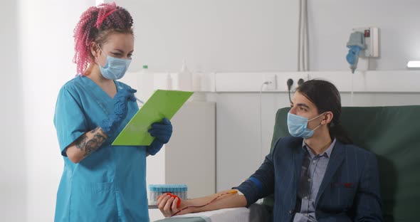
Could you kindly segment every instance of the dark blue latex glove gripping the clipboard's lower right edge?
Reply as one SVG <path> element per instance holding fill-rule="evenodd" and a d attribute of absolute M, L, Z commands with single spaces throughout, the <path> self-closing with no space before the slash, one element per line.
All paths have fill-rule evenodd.
<path fill-rule="evenodd" d="M 169 142 L 169 139 L 172 136 L 172 124 L 167 118 L 163 118 L 162 122 L 152 123 L 152 128 L 149 129 L 149 133 L 154 137 L 154 140 L 152 144 L 147 147 L 147 152 L 150 155 L 154 155 L 159 152 L 163 147 L 163 144 Z"/>

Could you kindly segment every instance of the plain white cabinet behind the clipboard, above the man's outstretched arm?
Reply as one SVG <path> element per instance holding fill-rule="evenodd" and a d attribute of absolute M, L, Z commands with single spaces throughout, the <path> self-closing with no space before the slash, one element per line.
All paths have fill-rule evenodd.
<path fill-rule="evenodd" d="M 165 145 L 165 184 L 187 184 L 188 198 L 216 191 L 216 103 L 186 102 Z"/>

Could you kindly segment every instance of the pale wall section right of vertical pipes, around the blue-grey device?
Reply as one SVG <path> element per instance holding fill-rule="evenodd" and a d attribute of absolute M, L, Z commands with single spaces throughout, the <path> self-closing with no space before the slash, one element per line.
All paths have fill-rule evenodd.
<path fill-rule="evenodd" d="M 420 1 L 308 0 L 311 70 L 347 70 L 346 43 L 352 28 L 379 28 L 379 59 L 370 68 L 404 70 L 420 59 Z"/>

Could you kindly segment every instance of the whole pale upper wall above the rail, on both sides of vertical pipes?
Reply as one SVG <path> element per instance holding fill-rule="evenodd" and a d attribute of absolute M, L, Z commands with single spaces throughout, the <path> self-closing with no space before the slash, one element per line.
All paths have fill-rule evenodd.
<path fill-rule="evenodd" d="M 135 19 L 132 70 L 189 67 L 211 72 L 284 71 L 297 68 L 296 0 L 117 0 Z M 308 0 L 311 70 L 347 70 L 352 28 L 379 27 L 377 70 L 405 69 L 420 59 L 416 0 Z M 390 16 L 392 15 L 392 16 Z"/>

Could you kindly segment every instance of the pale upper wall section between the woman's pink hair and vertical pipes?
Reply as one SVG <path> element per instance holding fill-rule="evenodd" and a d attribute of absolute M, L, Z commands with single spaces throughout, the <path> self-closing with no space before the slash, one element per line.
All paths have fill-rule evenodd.
<path fill-rule="evenodd" d="M 179 70 L 183 58 L 194 70 L 295 70 L 295 0 L 116 2 L 135 19 L 135 57 L 141 61 L 132 70 L 142 64 Z"/>

